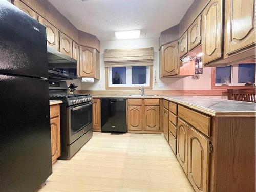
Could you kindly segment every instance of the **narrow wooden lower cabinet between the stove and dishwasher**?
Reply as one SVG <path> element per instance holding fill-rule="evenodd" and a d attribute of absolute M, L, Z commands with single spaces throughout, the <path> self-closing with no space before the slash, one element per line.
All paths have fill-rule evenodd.
<path fill-rule="evenodd" d="M 100 98 L 93 99 L 93 131 L 101 131 Z"/>

